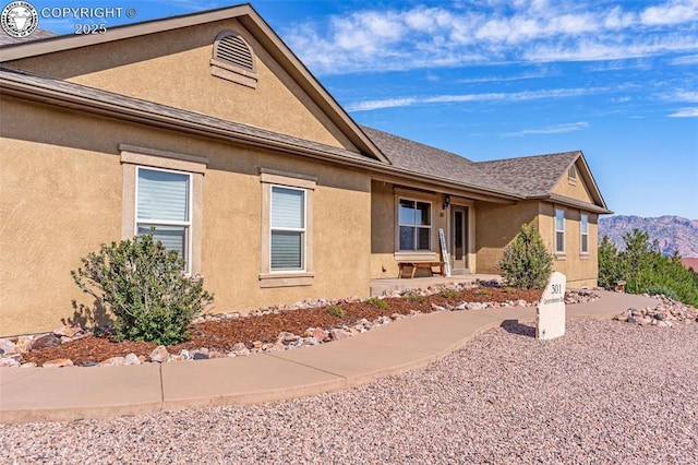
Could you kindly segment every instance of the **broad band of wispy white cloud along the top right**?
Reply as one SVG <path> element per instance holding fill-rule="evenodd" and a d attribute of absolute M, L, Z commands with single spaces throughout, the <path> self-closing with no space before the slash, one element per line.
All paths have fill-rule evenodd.
<path fill-rule="evenodd" d="M 353 11 L 284 36 L 320 74 L 492 62 L 614 60 L 698 52 L 698 0 L 486 0 Z M 682 27 L 677 27 L 682 24 Z"/>

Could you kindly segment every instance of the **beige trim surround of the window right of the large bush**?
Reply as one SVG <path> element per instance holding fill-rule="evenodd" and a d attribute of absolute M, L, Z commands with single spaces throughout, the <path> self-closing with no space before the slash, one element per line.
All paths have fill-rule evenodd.
<path fill-rule="evenodd" d="M 262 183 L 262 247 L 260 262 L 260 287 L 310 286 L 314 283 L 313 272 L 313 210 L 317 178 L 312 176 L 260 168 Z M 302 270 L 272 270 L 272 188 L 303 190 L 304 226 Z"/>

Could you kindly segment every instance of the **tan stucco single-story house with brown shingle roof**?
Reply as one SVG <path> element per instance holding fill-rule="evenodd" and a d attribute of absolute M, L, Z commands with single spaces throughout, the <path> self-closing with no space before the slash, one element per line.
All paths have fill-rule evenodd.
<path fill-rule="evenodd" d="M 358 126 L 248 4 L 0 47 L 0 335 L 91 305 L 80 258 L 151 226 L 214 311 L 368 296 L 398 263 L 496 273 L 538 225 L 597 283 L 581 152 L 476 163 Z"/>

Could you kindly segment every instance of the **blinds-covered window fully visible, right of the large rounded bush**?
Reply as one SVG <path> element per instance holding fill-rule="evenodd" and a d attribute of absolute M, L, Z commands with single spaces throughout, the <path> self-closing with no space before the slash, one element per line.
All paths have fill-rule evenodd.
<path fill-rule="evenodd" d="M 270 270 L 304 269 L 305 191 L 272 187 Z"/>

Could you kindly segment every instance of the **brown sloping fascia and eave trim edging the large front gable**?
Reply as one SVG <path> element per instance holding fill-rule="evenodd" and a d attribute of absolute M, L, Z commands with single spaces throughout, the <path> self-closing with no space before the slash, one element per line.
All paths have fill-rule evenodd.
<path fill-rule="evenodd" d="M 359 148 L 361 154 L 382 162 L 387 160 L 375 144 L 359 129 L 353 119 L 249 3 L 115 26 L 109 29 L 108 34 L 62 35 L 4 45 L 0 47 L 0 63 L 229 19 L 239 21 L 262 44 L 265 50 L 303 88 L 313 103 Z"/>

